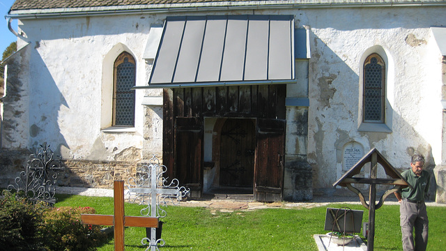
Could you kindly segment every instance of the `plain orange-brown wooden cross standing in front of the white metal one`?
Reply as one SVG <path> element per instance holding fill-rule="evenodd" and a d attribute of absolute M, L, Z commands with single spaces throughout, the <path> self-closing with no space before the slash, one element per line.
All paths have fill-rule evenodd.
<path fill-rule="evenodd" d="M 124 250 L 124 227 L 158 227 L 158 218 L 124 215 L 124 181 L 114 181 L 114 215 L 82 214 L 84 224 L 114 226 L 114 250 Z"/>

